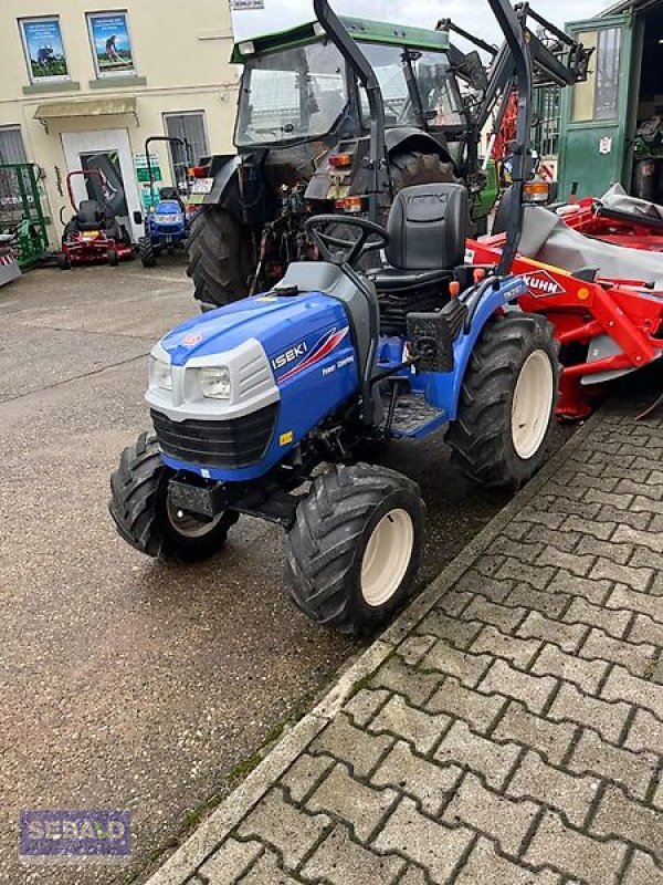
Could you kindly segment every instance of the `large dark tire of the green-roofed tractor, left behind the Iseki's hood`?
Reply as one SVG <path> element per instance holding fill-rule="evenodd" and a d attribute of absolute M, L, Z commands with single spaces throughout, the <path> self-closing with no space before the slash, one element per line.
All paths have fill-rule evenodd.
<path fill-rule="evenodd" d="M 220 206 L 207 206 L 191 222 L 187 242 L 187 273 L 196 285 L 196 298 L 220 308 L 249 294 L 250 259 L 248 231 Z"/>

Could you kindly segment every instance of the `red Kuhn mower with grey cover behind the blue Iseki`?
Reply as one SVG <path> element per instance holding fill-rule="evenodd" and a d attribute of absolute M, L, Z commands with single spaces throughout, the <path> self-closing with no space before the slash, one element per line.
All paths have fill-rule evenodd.
<path fill-rule="evenodd" d="M 583 418 L 608 382 L 663 356 L 663 209 L 612 188 L 556 212 L 524 211 L 513 272 L 528 292 L 518 303 L 544 314 L 561 345 L 558 416 Z M 494 266 L 506 241 L 469 240 L 466 259 Z"/>

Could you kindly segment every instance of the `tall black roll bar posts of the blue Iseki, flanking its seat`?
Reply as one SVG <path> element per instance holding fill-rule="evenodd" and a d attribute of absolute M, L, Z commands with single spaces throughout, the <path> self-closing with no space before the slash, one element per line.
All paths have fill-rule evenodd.
<path fill-rule="evenodd" d="M 518 128 L 513 153 L 513 199 L 506 222 L 507 241 L 502 252 L 498 272 L 508 273 L 520 240 L 523 226 L 523 185 L 530 173 L 529 133 L 532 126 L 532 58 L 522 24 L 508 0 L 488 0 L 493 14 L 505 37 L 513 60 L 514 86 L 518 93 Z M 385 146 L 385 104 L 376 72 L 361 49 L 352 40 L 328 0 L 314 0 L 315 15 L 329 40 L 337 46 L 346 62 L 355 71 L 368 96 L 370 108 L 370 171 L 369 217 L 378 220 L 378 197 L 381 190 L 380 176 L 387 168 Z"/>

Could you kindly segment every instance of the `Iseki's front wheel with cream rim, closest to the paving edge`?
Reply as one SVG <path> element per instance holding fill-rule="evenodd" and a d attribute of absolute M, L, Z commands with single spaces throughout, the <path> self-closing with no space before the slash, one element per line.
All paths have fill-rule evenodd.
<path fill-rule="evenodd" d="M 410 592 L 424 521 L 418 486 L 393 470 L 344 465 L 316 477 L 287 534 L 293 601 L 327 627 L 373 632 Z"/>

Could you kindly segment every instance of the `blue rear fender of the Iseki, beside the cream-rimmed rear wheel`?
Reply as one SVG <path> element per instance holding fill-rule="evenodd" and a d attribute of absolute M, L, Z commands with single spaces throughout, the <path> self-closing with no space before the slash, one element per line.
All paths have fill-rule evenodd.
<path fill-rule="evenodd" d="M 519 311 L 515 299 L 526 294 L 527 285 L 518 277 L 509 277 L 497 288 L 488 285 L 472 313 L 470 326 L 454 341 L 454 368 L 452 372 L 429 373 L 425 377 L 427 399 L 445 413 L 449 421 L 456 419 L 461 388 L 470 360 L 484 326 L 498 310 Z"/>

